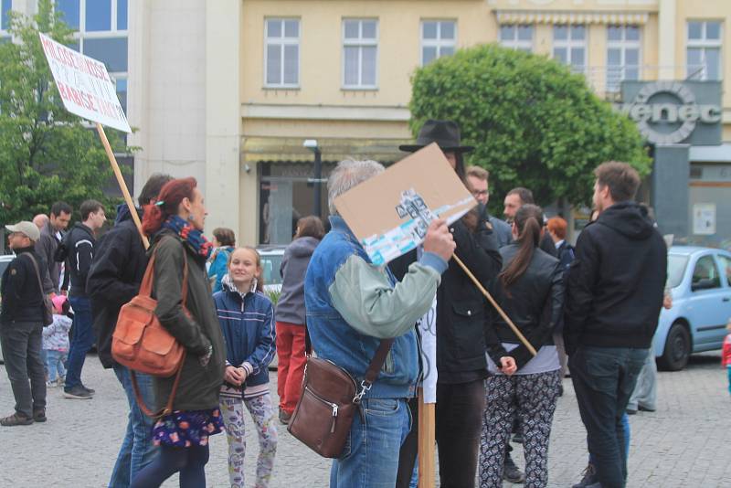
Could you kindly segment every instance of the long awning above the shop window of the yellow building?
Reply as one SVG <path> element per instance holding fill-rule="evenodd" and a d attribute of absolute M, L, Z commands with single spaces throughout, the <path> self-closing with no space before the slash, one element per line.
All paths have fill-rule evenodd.
<path fill-rule="evenodd" d="M 313 163 L 313 153 L 302 146 L 303 137 L 243 137 L 241 161 L 244 163 L 291 161 Z M 323 161 L 341 161 L 346 158 L 373 159 L 379 163 L 393 163 L 407 153 L 398 150 L 410 139 L 336 139 L 317 138 Z"/>

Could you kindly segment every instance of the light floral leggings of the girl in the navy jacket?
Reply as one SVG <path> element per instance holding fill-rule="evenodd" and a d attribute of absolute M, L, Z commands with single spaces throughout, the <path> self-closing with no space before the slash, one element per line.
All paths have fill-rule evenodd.
<path fill-rule="evenodd" d="M 271 480 L 274 456 L 277 453 L 277 428 L 271 409 L 269 393 L 259 397 L 241 398 L 221 397 L 221 411 L 226 425 L 228 438 L 228 479 L 231 488 L 244 488 L 244 456 L 246 438 L 244 437 L 244 405 L 254 419 L 259 433 L 259 458 L 257 459 L 256 488 L 266 488 Z"/>

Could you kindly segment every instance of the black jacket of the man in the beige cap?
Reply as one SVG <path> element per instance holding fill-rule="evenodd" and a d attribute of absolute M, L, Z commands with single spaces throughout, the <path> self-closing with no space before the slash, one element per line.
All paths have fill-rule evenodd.
<path fill-rule="evenodd" d="M 43 321 L 43 291 L 38 284 L 36 267 L 28 254 L 36 258 L 40 273 L 48 270 L 46 260 L 32 247 L 16 249 L 17 257 L 5 269 L 0 284 L 3 290 L 0 322 L 3 324 Z"/>

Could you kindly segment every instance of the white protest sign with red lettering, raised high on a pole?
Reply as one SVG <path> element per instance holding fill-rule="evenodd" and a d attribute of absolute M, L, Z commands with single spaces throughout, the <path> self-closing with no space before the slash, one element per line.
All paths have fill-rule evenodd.
<path fill-rule="evenodd" d="M 40 34 L 58 93 L 66 110 L 92 122 L 132 133 L 106 66 Z"/>

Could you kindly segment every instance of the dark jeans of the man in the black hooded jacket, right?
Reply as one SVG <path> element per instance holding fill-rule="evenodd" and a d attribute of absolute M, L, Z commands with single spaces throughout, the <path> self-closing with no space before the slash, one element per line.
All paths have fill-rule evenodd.
<path fill-rule="evenodd" d="M 647 349 L 582 345 L 568 358 L 588 451 L 603 488 L 623 488 L 627 481 L 622 415 L 647 354 Z"/>

